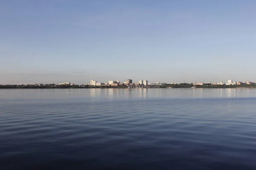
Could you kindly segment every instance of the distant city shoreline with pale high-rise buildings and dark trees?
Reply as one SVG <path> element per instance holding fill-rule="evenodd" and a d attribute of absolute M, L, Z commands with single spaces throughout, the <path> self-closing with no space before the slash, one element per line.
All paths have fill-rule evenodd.
<path fill-rule="evenodd" d="M 28 85 L 0 85 L 0 88 L 256 88 L 256 82 L 236 82 L 232 79 L 227 82 L 193 82 L 193 83 L 166 83 L 155 82 L 148 83 L 148 80 L 139 80 L 133 82 L 127 79 L 125 82 L 119 80 L 110 80 L 108 82 L 97 82 L 94 79 L 90 83 L 76 85 L 71 82 L 56 84 L 28 84 Z"/>

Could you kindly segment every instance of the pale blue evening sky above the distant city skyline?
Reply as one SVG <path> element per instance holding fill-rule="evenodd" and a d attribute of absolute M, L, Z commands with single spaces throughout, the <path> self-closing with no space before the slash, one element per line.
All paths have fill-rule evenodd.
<path fill-rule="evenodd" d="M 0 84 L 256 82 L 255 0 L 0 0 Z"/>

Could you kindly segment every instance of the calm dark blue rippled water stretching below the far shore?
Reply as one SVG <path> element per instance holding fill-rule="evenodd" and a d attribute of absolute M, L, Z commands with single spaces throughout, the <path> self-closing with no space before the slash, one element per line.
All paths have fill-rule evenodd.
<path fill-rule="evenodd" d="M 256 89 L 0 90 L 0 170 L 256 169 Z"/>

